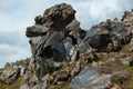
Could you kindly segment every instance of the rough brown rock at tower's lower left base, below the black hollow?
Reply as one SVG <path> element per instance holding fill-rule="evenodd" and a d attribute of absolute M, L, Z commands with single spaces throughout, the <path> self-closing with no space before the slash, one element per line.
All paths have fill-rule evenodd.
<path fill-rule="evenodd" d="M 24 75 L 23 85 L 29 83 L 28 87 L 35 89 L 37 87 L 41 88 L 40 85 L 45 82 L 47 78 L 44 78 L 48 73 L 52 73 L 55 70 L 62 68 L 63 62 L 55 62 L 53 60 L 48 60 L 43 58 L 31 58 L 28 69 Z M 23 86 L 22 85 L 22 86 Z M 43 83 L 44 85 L 44 83 Z M 43 87 L 43 86 L 42 86 Z M 47 85 L 45 85 L 47 87 Z"/>

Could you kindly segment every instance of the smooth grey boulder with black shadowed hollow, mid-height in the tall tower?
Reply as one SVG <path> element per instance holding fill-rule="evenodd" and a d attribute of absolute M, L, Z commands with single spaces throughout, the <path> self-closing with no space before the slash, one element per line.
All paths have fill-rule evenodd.
<path fill-rule="evenodd" d="M 66 51 L 62 38 L 63 36 L 60 32 L 53 32 L 49 39 L 40 43 L 41 48 L 38 49 L 38 56 L 45 59 L 52 58 L 53 61 L 63 61 Z"/>

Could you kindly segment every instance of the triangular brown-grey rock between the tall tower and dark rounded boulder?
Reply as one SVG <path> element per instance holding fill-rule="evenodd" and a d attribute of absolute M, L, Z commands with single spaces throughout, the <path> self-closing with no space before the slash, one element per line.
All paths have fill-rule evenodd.
<path fill-rule="evenodd" d="M 71 56 L 71 60 L 81 60 L 83 62 L 92 62 L 98 61 L 96 55 L 93 52 L 89 42 L 82 40 L 79 44 L 75 46 L 73 53 Z"/>

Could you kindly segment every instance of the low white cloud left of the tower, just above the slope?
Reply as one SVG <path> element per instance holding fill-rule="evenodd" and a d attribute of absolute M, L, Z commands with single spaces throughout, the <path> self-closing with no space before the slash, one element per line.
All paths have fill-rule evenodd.
<path fill-rule="evenodd" d="M 24 47 L 0 44 L 0 67 L 3 67 L 6 62 L 14 62 L 16 60 L 25 59 L 29 56 Z"/>

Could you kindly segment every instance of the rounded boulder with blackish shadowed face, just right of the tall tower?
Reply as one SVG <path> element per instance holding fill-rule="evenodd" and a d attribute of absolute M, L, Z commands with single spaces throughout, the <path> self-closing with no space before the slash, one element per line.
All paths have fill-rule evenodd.
<path fill-rule="evenodd" d="M 111 42 L 110 33 L 104 28 L 92 27 L 88 32 L 89 43 L 92 48 L 103 50 Z"/>

